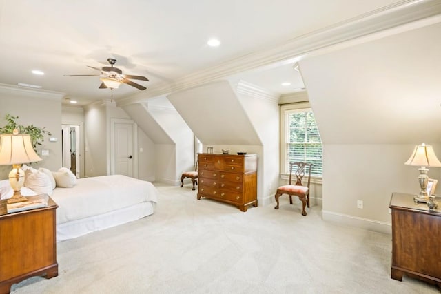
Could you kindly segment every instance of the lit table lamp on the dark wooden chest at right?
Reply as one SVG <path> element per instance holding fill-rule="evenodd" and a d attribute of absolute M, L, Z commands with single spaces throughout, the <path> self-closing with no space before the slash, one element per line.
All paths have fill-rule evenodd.
<path fill-rule="evenodd" d="M 427 181 L 429 180 L 429 176 L 427 176 L 427 172 L 429 169 L 427 167 L 441 167 L 441 162 L 435 155 L 433 151 L 433 147 L 431 145 L 418 145 L 413 149 L 411 157 L 404 162 L 404 165 L 414 165 L 420 167 L 418 171 L 420 171 L 420 176 L 418 176 L 418 181 L 420 182 L 420 193 L 415 196 L 413 199 L 416 202 L 425 202 L 429 201 L 429 193 L 427 193 Z"/>

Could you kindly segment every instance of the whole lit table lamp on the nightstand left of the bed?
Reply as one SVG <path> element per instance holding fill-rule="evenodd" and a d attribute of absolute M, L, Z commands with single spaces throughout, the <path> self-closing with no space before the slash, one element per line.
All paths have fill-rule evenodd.
<path fill-rule="evenodd" d="M 12 165 L 9 184 L 14 190 L 14 195 L 6 200 L 8 203 L 28 201 L 20 192 L 25 182 L 25 173 L 21 169 L 21 164 L 41 160 L 32 147 L 29 135 L 19 134 L 17 129 L 14 129 L 12 134 L 0 135 L 0 165 Z"/>

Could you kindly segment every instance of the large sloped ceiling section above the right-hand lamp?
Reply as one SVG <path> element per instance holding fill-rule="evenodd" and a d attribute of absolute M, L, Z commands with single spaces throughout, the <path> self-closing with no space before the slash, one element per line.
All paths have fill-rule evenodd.
<path fill-rule="evenodd" d="M 440 143 L 440 36 L 438 23 L 300 61 L 323 143 Z"/>

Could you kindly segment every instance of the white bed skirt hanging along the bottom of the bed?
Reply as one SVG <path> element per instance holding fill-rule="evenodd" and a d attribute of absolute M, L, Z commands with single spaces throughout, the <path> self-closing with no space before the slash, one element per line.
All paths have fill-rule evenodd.
<path fill-rule="evenodd" d="M 98 216 L 91 216 L 89 218 L 82 218 L 81 220 L 73 220 L 72 222 L 64 222 L 57 224 L 57 242 L 69 240 L 72 238 L 92 233 L 94 231 L 101 231 L 110 227 L 125 224 L 139 220 L 145 216 L 150 216 L 154 211 L 154 202 L 141 202 L 139 204 L 110 211 Z"/>

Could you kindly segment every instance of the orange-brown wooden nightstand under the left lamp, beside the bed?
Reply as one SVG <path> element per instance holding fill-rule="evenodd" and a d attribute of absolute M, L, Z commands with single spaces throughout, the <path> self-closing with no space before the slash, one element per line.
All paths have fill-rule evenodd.
<path fill-rule="evenodd" d="M 6 200 L 0 200 L 0 294 L 28 277 L 58 275 L 57 207 L 49 198 L 48 207 L 8 214 Z"/>

